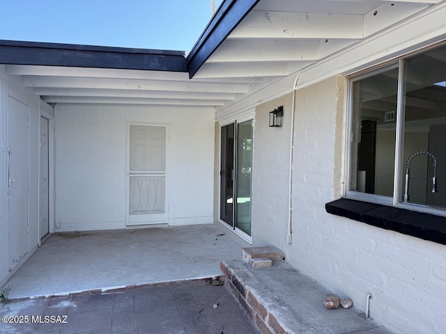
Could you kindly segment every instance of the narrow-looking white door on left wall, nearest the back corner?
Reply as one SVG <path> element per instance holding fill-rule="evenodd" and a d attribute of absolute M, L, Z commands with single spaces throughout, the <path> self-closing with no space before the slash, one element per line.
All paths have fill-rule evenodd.
<path fill-rule="evenodd" d="M 48 120 L 40 117 L 39 222 L 40 239 L 49 232 Z"/>

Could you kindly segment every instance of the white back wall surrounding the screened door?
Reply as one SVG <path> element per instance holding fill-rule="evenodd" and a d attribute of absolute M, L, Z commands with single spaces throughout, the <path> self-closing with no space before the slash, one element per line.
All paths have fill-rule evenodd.
<path fill-rule="evenodd" d="M 56 232 L 125 228 L 128 122 L 169 124 L 169 225 L 213 223 L 213 110 L 57 104 Z"/>

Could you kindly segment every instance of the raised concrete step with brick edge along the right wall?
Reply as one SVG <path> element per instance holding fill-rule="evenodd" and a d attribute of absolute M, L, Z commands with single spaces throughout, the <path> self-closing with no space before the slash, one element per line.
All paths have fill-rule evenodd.
<path fill-rule="evenodd" d="M 390 334 L 354 307 L 326 309 L 323 301 L 330 292 L 286 262 L 254 269 L 232 260 L 220 268 L 224 285 L 263 334 Z"/>

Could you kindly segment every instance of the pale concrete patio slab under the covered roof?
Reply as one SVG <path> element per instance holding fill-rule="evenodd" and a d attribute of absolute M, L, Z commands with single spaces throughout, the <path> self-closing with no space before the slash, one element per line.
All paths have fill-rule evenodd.
<path fill-rule="evenodd" d="M 17 299 L 220 276 L 241 242 L 215 225 L 55 233 L 4 287 Z"/>

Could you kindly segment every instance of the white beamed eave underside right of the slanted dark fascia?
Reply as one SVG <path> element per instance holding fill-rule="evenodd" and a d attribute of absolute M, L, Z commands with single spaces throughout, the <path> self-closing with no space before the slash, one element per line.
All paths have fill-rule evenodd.
<path fill-rule="evenodd" d="M 261 0 L 194 78 L 298 72 L 437 0 Z"/>

